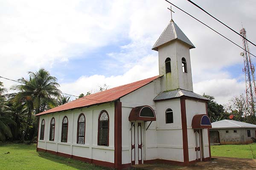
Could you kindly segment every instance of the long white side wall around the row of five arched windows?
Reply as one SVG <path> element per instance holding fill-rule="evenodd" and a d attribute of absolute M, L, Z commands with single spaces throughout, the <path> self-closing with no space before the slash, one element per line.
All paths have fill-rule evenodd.
<path fill-rule="evenodd" d="M 98 146 L 98 117 L 102 110 L 106 110 L 109 115 L 109 146 Z M 85 144 L 76 144 L 77 120 L 80 113 L 84 113 L 86 120 Z M 64 116 L 68 118 L 67 143 L 61 142 L 61 124 Z M 55 139 L 49 141 L 52 117 L 55 118 Z M 38 148 L 114 163 L 114 103 L 42 115 L 40 116 L 39 132 L 42 119 L 45 120 L 44 140 L 38 140 Z"/>

